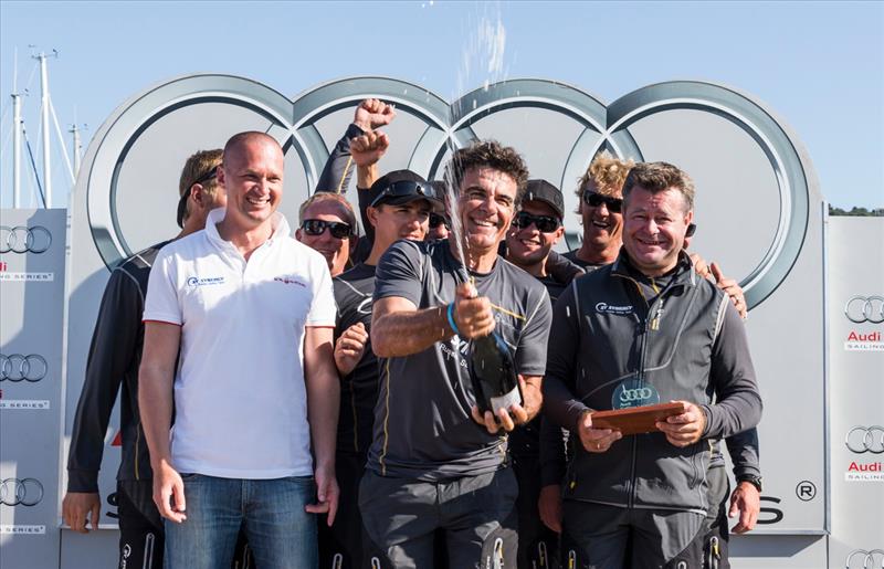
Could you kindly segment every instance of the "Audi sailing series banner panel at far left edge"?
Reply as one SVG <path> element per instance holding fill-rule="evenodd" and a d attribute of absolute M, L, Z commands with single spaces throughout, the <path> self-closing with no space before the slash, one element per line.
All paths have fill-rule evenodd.
<path fill-rule="evenodd" d="M 0 566 L 59 563 L 65 210 L 0 221 Z M 9 563 L 9 565 L 7 565 Z"/>

